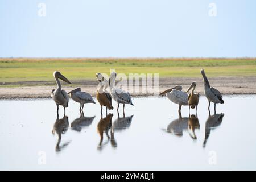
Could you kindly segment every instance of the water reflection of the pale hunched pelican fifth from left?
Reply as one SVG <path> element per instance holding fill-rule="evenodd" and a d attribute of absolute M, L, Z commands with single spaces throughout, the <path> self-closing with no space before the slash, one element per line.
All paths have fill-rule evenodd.
<path fill-rule="evenodd" d="M 167 126 L 167 132 L 172 133 L 181 137 L 183 135 L 183 130 L 188 129 L 188 117 L 180 117 L 175 119 Z"/>

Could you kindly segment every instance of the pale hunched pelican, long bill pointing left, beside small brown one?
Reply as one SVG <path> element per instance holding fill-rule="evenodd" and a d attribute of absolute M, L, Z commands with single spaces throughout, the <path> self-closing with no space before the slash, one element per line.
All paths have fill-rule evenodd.
<path fill-rule="evenodd" d="M 186 92 L 181 91 L 182 86 L 176 85 L 174 88 L 167 89 L 164 92 L 160 93 L 159 96 L 163 94 L 167 94 L 167 97 L 170 101 L 179 105 L 179 113 L 181 111 L 181 106 L 188 105 L 188 94 Z"/>

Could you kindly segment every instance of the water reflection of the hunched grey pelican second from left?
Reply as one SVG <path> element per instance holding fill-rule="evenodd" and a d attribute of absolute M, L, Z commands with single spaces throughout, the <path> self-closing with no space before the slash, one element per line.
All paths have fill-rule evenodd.
<path fill-rule="evenodd" d="M 94 117 L 84 117 L 84 114 L 81 114 L 79 118 L 76 118 L 71 123 L 71 128 L 75 131 L 81 131 L 83 127 L 88 127 L 92 124 Z"/>

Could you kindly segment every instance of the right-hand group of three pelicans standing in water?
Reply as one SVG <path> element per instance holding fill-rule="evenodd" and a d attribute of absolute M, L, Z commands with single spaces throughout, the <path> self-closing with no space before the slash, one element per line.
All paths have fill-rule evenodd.
<path fill-rule="evenodd" d="M 209 81 L 207 76 L 205 75 L 204 69 L 201 69 L 201 74 L 204 79 L 204 93 L 205 97 L 209 101 L 208 111 L 210 113 L 210 102 L 214 103 L 214 112 L 216 113 L 216 104 L 220 103 L 223 104 L 224 100 L 221 96 L 221 93 L 213 88 L 210 87 Z M 186 92 L 182 91 L 182 86 L 177 85 L 174 88 L 170 88 L 165 90 L 164 92 L 160 93 L 159 95 L 167 94 L 167 97 L 170 101 L 174 102 L 175 104 L 179 105 L 179 113 L 181 111 L 181 106 L 189 106 L 189 115 L 190 115 L 190 108 L 194 109 L 196 107 L 196 114 L 197 114 L 197 105 L 199 104 L 199 94 L 194 93 L 196 88 L 196 82 L 192 82 L 191 86 L 189 86 Z M 192 89 L 192 90 L 191 90 Z M 191 93 L 188 94 L 189 90 Z"/>

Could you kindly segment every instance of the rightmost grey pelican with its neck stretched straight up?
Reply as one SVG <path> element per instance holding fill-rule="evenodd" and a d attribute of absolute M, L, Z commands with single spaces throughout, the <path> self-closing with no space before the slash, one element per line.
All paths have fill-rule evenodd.
<path fill-rule="evenodd" d="M 217 103 L 223 104 L 224 100 L 222 99 L 221 93 L 217 89 L 210 87 L 210 83 L 207 77 L 205 76 L 204 69 L 201 69 L 201 74 L 204 78 L 204 94 L 209 101 L 208 111 L 210 111 L 210 102 L 213 102 L 214 111 L 216 112 L 216 104 Z"/>

